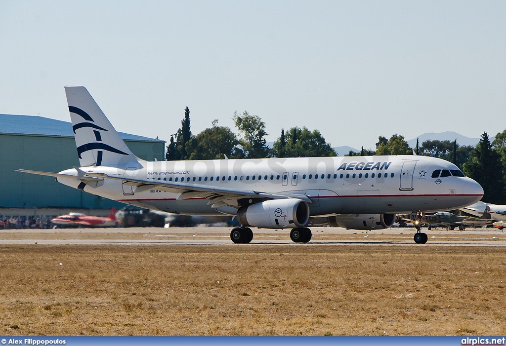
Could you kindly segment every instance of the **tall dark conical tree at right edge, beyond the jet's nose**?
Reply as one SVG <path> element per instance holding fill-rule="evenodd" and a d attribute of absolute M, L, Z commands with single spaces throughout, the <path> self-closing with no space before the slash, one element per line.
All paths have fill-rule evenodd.
<path fill-rule="evenodd" d="M 486 132 L 481 135 L 473 156 L 464 164 L 463 170 L 483 187 L 483 201 L 494 204 L 506 202 L 500 154 L 492 147 Z"/>

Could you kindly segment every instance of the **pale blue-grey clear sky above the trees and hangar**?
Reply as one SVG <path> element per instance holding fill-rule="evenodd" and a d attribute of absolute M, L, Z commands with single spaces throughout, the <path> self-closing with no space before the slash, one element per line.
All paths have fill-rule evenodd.
<path fill-rule="evenodd" d="M 379 135 L 506 128 L 506 2 L 0 0 L 0 113 L 69 121 L 84 85 L 118 131 L 319 129 Z M 0 129 L 1 131 L 1 129 Z M 235 131 L 235 129 L 234 129 Z"/>

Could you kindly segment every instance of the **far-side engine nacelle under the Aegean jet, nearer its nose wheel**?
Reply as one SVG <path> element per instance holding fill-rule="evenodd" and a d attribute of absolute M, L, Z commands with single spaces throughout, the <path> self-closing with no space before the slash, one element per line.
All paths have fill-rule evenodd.
<path fill-rule="evenodd" d="M 332 227 L 346 229 L 385 229 L 392 227 L 395 214 L 341 214 L 327 217 L 327 222 Z"/>

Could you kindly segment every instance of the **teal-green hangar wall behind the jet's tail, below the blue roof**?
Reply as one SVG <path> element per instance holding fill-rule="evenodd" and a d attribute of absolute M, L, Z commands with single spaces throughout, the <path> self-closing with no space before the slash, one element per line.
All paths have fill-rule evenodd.
<path fill-rule="evenodd" d="M 0 132 L 2 132 L 0 124 Z M 165 142 L 123 139 L 139 158 L 164 160 Z M 71 136 L 0 133 L 0 208 L 120 209 L 124 204 L 60 184 L 53 177 L 15 172 L 59 172 L 79 166 Z"/>

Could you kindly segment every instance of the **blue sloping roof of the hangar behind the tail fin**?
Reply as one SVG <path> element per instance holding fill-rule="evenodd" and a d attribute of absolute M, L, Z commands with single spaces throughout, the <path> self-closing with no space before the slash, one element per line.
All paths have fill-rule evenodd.
<path fill-rule="evenodd" d="M 35 136 L 74 137 L 72 123 L 33 115 L 0 114 L 0 133 Z M 165 142 L 161 139 L 118 132 L 122 139 L 147 142 Z"/>

